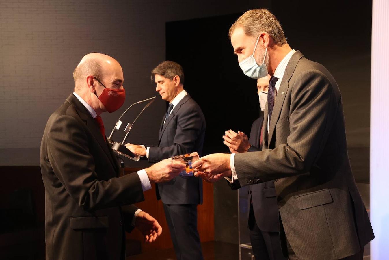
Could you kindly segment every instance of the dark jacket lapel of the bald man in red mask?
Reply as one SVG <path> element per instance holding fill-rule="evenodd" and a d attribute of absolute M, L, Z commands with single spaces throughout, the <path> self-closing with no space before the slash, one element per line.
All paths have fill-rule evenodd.
<path fill-rule="evenodd" d="M 114 163 L 114 158 L 112 158 L 112 154 L 109 151 L 107 143 L 104 141 L 104 138 L 100 132 L 100 128 L 96 120 L 92 118 L 88 109 L 86 109 L 86 107 L 80 102 L 80 100 L 78 100 L 73 94 L 71 94 L 67 98 L 67 101 L 75 107 L 80 118 L 82 119 L 82 121 L 84 121 L 85 125 L 92 132 L 93 137 L 95 137 L 96 141 L 103 149 L 105 155 L 107 155 L 108 159 L 112 163 L 112 166 L 114 167 L 115 170 L 117 170 L 117 163 Z"/>

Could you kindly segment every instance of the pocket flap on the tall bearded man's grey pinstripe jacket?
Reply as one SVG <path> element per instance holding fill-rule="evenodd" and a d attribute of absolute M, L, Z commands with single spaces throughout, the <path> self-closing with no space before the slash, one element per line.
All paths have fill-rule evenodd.
<path fill-rule="evenodd" d="M 331 193 L 328 189 L 318 190 L 296 196 L 299 209 L 309 209 L 333 202 Z"/>

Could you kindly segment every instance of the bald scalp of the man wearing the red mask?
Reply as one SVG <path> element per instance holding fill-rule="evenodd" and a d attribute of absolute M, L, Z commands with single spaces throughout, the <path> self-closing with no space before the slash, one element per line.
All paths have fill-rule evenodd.
<path fill-rule="evenodd" d="M 102 53 L 89 53 L 82 57 L 80 63 L 74 69 L 74 89 L 80 90 L 88 76 L 101 80 L 107 70 L 121 70 L 119 62 L 114 58 Z"/>

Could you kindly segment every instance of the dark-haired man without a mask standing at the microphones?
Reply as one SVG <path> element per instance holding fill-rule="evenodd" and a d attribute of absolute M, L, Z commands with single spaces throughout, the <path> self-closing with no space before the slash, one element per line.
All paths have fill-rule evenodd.
<path fill-rule="evenodd" d="M 158 147 L 127 144 L 133 153 L 159 162 L 174 155 L 198 152 L 201 156 L 205 118 L 198 104 L 184 90 L 184 72 L 174 61 L 163 61 L 154 70 L 156 91 L 169 102 L 162 119 Z M 195 176 L 177 176 L 156 185 L 177 259 L 203 259 L 197 231 L 197 205 L 203 201 L 203 183 Z"/>

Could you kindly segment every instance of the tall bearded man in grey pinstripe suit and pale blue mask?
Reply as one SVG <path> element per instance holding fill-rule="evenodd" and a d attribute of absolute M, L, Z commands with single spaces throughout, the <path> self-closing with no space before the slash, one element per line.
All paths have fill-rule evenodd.
<path fill-rule="evenodd" d="M 245 12 L 230 38 L 247 76 L 272 76 L 263 148 L 205 156 L 193 163 L 196 175 L 230 177 L 233 188 L 274 180 L 289 259 L 362 259 L 374 234 L 350 167 L 335 79 L 289 47 L 266 9 Z"/>

